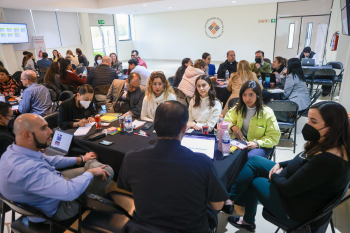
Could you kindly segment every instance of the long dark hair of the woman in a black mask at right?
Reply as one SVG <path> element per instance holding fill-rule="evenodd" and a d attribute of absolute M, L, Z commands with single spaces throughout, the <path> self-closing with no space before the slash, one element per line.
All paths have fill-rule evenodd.
<path fill-rule="evenodd" d="M 338 148 L 341 151 L 341 157 L 344 159 L 343 148 L 347 156 L 350 155 L 350 125 L 349 118 L 345 108 L 333 101 L 322 101 L 311 106 L 310 109 L 317 109 L 325 126 L 329 127 L 329 132 L 325 135 L 322 143 L 307 142 L 304 146 L 308 158 L 315 156 L 319 152 L 326 152 L 332 148 Z M 350 166 L 350 160 L 349 160 Z"/>

